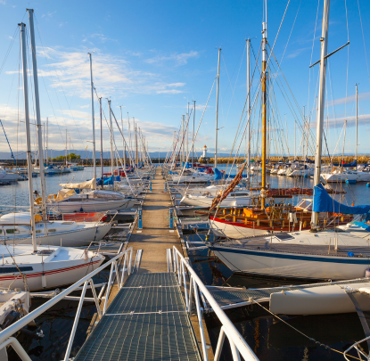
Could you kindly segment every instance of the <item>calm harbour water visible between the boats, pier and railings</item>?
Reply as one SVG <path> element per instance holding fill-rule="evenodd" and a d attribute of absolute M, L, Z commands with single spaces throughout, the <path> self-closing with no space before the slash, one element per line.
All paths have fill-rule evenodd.
<path fill-rule="evenodd" d="M 219 168 L 226 168 L 221 165 Z M 104 171 L 109 171 L 105 168 Z M 236 168 L 233 174 L 236 173 Z M 99 174 L 100 172 L 98 172 Z M 90 179 L 93 175 L 93 168 L 86 168 L 63 176 L 47 176 L 47 193 L 57 193 L 60 183 L 79 182 Z M 253 183 L 258 185 L 260 176 L 253 176 Z M 267 183 L 271 187 L 312 187 L 311 178 L 294 179 L 285 176 L 267 176 Z M 34 189 L 40 191 L 39 178 L 33 178 Z M 335 197 L 345 204 L 369 204 L 370 188 L 366 184 L 358 185 L 333 185 L 342 188 L 347 193 L 343 196 Z M 0 187 L 1 205 L 29 205 L 28 182 L 19 182 L 15 185 Z M 296 202 L 297 199 L 292 199 Z M 200 241 L 204 234 L 188 234 L 189 240 Z M 212 257 L 209 250 L 189 251 L 193 267 L 201 280 L 206 284 L 239 286 L 239 287 L 272 287 L 284 284 L 281 280 L 259 278 L 247 275 L 233 275 L 225 265 Z M 103 273 L 96 279 L 96 282 L 107 282 L 108 272 Z M 286 283 L 285 283 L 286 284 Z M 292 284 L 292 281 L 289 281 Z M 32 308 L 37 308 L 44 301 L 33 300 Z M 43 316 L 37 318 L 37 326 L 43 330 L 45 337 L 42 340 L 29 340 L 25 336 L 20 336 L 21 344 L 28 350 L 32 360 L 61 360 L 70 336 L 70 330 L 76 314 L 78 302 L 62 301 L 51 308 Z M 285 324 L 273 319 L 265 310 L 254 305 L 248 308 L 237 308 L 228 310 L 227 315 L 241 332 L 244 339 L 251 346 L 260 360 L 343 360 L 341 354 L 318 346 L 308 340 L 298 332 L 293 331 Z M 95 314 L 95 307 L 86 304 L 80 316 L 78 331 L 73 344 L 71 357 L 75 356 L 78 349 L 86 340 L 86 330 L 90 324 L 92 316 Z M 290 324 L 305 332 L 309 337 L 322 343 L 343 351 L 357 340 L 364 338 L 361 324 L 357 314 L 330 315 L 330 316 L 299 316 L 286 319 Z M 210 340 L 213 349 L 216 349 L 219 333 L 219 323 L 217 317 L 206 316 Z M 225 342 L 225 350 L 222 355 L 223 360 L 230 360 L 231 353 Z M 19 358 L 14 354 L 11 360 Z"/>

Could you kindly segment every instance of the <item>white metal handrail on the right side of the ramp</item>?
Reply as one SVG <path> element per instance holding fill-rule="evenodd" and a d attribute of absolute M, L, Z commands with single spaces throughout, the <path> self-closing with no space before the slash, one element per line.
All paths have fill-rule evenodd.
<path fill-rule="evenodd" d="M 184 256 L 177 250 L 176 246 L 173 246 L 173 269 L 175 274 L 177 274 L 178 284 L 181 286 L 184 283 L 185 291 L 185 304 L 187 312 L 190 314 L 192 312 L 192 302 L 193 296 L 195 299 L 195 306 L 198 315 L 198 323 L 201 332 L 201 349 L 203 354 L 203 359 L 208 361 L 207 348 L 205 342 L 205 335 L 202 324 L 202 311 L 201 300 L 199 297 L 198 290 L 201 292 L 202 296 L 207 299 L 210 303 L 211 308 L 218 316 L 218 320 L 221 322 L 222 327 L 218 337 L 218 346 L 215 353 L 215 361 L 219 360 L 221 356 L 221 349 L 224 344 L 225 336 L 229 340 L 230 348 L 232 350 L 233 359 L 240 360 L 239 354 L 241 354 L 245 361 L 254 360 L 258 361 L 259 358 L 254 354 L 252 349 L 248 346 L 247 342 L 243 339 L 242 335 L 237 331 L 234 324 L 226 316 L 225 312 L 218 306 L 218 302 L 208 291 L 204 283 L 201 282 L 201 279 L 195 273 L 193 268 L 189 265 Z M 185 270 L 186 268 L 186 270 Z M 190 275 L 190 290 L 187 290 L 186 286 L 186 271 Z"/>

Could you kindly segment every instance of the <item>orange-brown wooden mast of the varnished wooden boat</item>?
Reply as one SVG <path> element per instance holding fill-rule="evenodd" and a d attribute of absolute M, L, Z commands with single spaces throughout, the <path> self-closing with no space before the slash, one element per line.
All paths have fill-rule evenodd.
<path fill-rule="evenodd" d="M 266 197 L 266 153 L 267 153 L 267 0 L 265 2 L 266 18 L 262 23 L 262 182 L 261 209 L 265 209 Z"/>

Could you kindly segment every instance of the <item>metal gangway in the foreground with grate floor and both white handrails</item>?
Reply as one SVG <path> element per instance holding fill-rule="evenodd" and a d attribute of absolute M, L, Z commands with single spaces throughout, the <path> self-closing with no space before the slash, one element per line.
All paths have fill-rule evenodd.
<path fill-rule="evenodd" d="M 221 324 L 214 359 L 219 360 L 227 339 L 234 360 L 240 360 L 241 356 L 246 361 L 258 360 L 175 246 L 167 253 L 167 273 L 137 273 L 137 268 L 131 266 L 132 253 L 131 247 L 119 253 L 29 315 L 4 329 L 0 332 L 0 350 L 12 346 L 22 360 L 30 361 L 27 352 L 13 335 L 57 302 L 69 298 L 72 291 L 81 290 L 80 297 L 74 297 L 79 299 L 79 302 L 65 351 L 65 361 L 70 360 L 78 318 L 86 300 L 95 302 L 97 318 L 93 331 L 74 357 L 75 361 L 208 360 L 201 299 L 207 300 Z M 97 295 L 93 276 L 106 267 L 111 267 L 109 282 Z M 108 305 L 113 287 L 118 289 L 118 292 Z M 92 290 L 93 298 L 86 298 L 88 288 Z M 193 316 L 197 316 L 200 340 L 197 340 L 193 329 Z"/>

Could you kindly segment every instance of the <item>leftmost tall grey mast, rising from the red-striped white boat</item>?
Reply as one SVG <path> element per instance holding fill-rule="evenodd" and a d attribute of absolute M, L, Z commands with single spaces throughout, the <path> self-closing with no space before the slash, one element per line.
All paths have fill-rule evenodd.
<path fill-rule="evenodd" d="M 31 159 L 31 140 L 29 131 L 29 85 L 27 81 L 27 53 L 26 53 L 26 24 L 21 26 L 21 53 L 23 65 L 23 93 L 24 93 L 24 116 L 26 123 L 26 144 L 27 144 L 27 172 L 29 176 L 29 207 L 31 209 L 31 234 L 33 251 L 37 252 L 36 228 L 35 228 L 35 208 L 32 189 L 32 159 Z"/>

